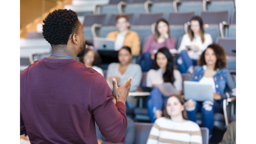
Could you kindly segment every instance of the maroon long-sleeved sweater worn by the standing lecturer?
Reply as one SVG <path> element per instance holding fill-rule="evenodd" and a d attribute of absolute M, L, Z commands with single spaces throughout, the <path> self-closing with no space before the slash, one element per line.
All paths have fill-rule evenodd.
<path fill-rule="evenodd" d="M 31 144 L 119 142 L 127 128 L 125 105 L 114 104 L 104 77 L 73 59 L 35 61 L 20 73 L 20 135 Z"/>

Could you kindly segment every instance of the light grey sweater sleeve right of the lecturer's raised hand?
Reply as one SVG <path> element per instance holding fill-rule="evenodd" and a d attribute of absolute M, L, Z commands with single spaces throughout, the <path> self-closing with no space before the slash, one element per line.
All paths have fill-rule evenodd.
<path fill-rule="evenodd" d="M 142 70 L 139 65 L 135 65 L 130 69 L 131 71 L 135 71 L 133 78 L 131 80 L 130 91 L 136 91 L 138 86 L 140 86 L 141 78 L 142 78 Z"/>

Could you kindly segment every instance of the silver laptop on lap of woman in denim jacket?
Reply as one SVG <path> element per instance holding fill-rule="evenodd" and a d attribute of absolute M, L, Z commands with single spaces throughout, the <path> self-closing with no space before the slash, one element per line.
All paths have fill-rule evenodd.
<path fill-rule="evenodd" d="M 200 84 L 194 81 L 184 81 L 185 100 L 193 99 L 195 101 L 211 101 L 213 102 L 212 85 Z"/>

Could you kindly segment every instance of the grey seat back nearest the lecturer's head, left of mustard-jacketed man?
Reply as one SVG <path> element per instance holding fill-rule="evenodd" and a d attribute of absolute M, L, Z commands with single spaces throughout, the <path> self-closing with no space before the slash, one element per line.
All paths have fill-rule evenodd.
<path fill-rule="evenodd" d="M 102 24 L 106 23 L 106 14 L 101 15 L 84 15 L 83 26 L 91 26 L 93 24 Z"/>

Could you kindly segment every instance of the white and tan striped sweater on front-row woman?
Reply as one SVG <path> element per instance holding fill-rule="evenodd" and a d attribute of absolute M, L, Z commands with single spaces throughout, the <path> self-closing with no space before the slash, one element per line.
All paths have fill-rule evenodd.
<path fill-rule="evenodd" d="M 156 119 L 152 126 L 147 144 L 202 144 L 202 133 L 197 123 L 174 122 L 161 117 Z"/>

